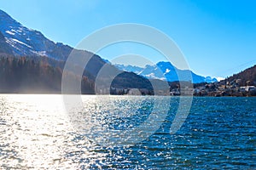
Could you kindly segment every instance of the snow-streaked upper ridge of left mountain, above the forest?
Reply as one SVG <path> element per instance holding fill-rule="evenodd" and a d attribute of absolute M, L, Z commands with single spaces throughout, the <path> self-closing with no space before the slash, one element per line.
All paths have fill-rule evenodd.
<path fill-rule="evenodd" d="M 90 65 L 85 70 L 90 71 L 94 76 L 102 68 L 102 65 L 106 64 L 105 60 L 96 54 L 91 54 L 85 50 L 74 49 L 61 42 L 53 42 L 47 37 L 44 37 L 40 31 L 22 26 L 19 22 L 11 18 L 9 14 L 3 12 L 3 10 L 0 10 L 0 32 L 2 33 L 0 34 L 0 42 L 4 43 L 3 51 L 8 54 L 31 56 L 33 58 L 45 56 L 49 59 L 59 61 L 66 61 L 72 51 L 75 51 L 75 53 L 81 56 L 89 57 L 93 55 L 92 59 L 90 59 Z"/>

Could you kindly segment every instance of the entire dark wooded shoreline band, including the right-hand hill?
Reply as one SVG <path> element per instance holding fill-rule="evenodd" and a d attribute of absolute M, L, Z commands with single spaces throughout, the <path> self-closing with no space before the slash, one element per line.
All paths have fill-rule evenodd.
<path fill-rule="evenodd" d="M 97 59 L 97 58 L 96 58 Z M 108 82 L 112 79 L 113 75 L 118 75 L 113 78 L 111 83 L 110 94 L 125 94 L 125 89 L 138 88 L 142 94 L 154 95 L 154 89 L 151 82 L 161 87 L 163 83 L 160 80 L 151 80 L 151 82 L 144 77 L 140 77 L 132 72 L 118 71 L 112 65 L 108 65 L 108 71 L 103 72 L 102 79 L 100 79 L 100 90 L 95 87 L 96 77 L 98 71 L 101 70 L 101 65 L 95 65 L 96 59 L 90 61 L 90 67 L 94 67 L 92 73 L 90 68 L 84 70 L 84 74 L 81 81 L 81 94 L 98 94 L 98 91 L 109 90 Z M 35 56 L 23 56 L 16 57 L 12 54 L 1 54 L 0 56 L 0 93 L 1 94 L 61 94 L 61 78 L 63 74 L 65 62 L 55 59 L 49 59 L 47 57 L 35 57 Z M 74 65 L 76 66 L 76 65 Z M 118 73 L 118 74 L 116 74 Z M 79 82 L 81 77 L 74 75 L 72 72 L 66 73 L 73 81 Z M 256 65 L 248 68 L 245 71 L 241 71 L 238 74 L 228 77 L 224 81 L 216 83 L 200 83 L 194 84 L 194 88 L 206 87 L 206 95 L 218 94 L 221 92 L 220 87 L 226 84 L 226 82 L 234 83 L 239 80 L 239 84 L 236 84 L 238 89 L 241 86 L 255 85 L 256 83 Z M 180 82 L 168 82 L 171 91 L 177 91 L 180 86 Z M 188 87 L 191 86 L 190 82 Z M 107 85 L 106 85 L 107 84 Z M 210 88 L 209 88 L 210 87 Z M 235 88 L 234 88 L 235 89 Z M 238 95 L 233 92 L 234 89 L 225 88 L 224 92 L 229 95 Z M 159 89 L 163 91 L 163 89 Z M 126 90 L 126 92 L 128 92 Z M 236 90 L 235 90 L 236 91 Z M 231 93 L 231 94 L 230 94 Z M 73 94 L 71 90 L 71 94 Z M 108 92 L 107 92 L 108 94 Z M 243 94 L 242 94 L 243 95 Z M 247 94 L 244 94 L 247 95 Z M 250 95 L 254 95 L 250 93 Z M 241 96 L 239 94 L 239 96 Z"/>

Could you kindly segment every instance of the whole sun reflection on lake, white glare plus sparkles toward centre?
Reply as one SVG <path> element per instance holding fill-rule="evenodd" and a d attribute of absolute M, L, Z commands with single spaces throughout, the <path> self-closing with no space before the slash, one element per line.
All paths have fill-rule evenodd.
<path fill-rule="evenodd" d="M 1 95 L 1 122 L 4 125 L 1 126 L 2 167 L 100 168 L 104 165 L 102 160 L 106 160 L 104 157 L 108 153 L 102 152 L 105 149 L 91 140 L 96 136 L 91 137 L 90 130 L 95 130 L 97 126 L 113 128 L 114 124 L 108 124 L 108 121 L 113 121 L 113 117 L 134 116 L 141 103 L 139 100 L 134 104 L 131 100 L 114 97 L 113 103 L 107 104 L 104 97 L 93 95 L 83 96 L 83 101 L 84 111 L 77 111 L 75 107 L 73 110 L 83 115 L 83 120 L 75 117 L 83 126 L 84 119 L 88 119 L 85 136 L 77 133 L 76 127 L 70 122 L 73 117 L 67 115 L 61 95 Z M 77 125 L 81 122 L 77 122 Z M 119 120 L 115 120 L 115 123 L 118 124 Z M 90 161 L 81 162 L 83 158 Z"/>

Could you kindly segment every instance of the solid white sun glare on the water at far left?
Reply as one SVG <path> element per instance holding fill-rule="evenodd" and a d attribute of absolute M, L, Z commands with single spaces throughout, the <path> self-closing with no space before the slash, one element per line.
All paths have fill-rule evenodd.
<path fill-rule="evenodd" d="M 61 95 L 1 95 L 1 150 L 3 167 L 76 167 L 63 155 L 73 150 Z M 65 165 L 64 165 L 65 164 Z"/>

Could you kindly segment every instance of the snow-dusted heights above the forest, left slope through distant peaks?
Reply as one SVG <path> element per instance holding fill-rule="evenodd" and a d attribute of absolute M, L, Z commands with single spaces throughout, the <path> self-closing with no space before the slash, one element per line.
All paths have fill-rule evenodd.
<path fill-rule="evenodd" d="M 22 26 L 19 22 L 12 19 L 9 14 L 0 10 L 0 54 L 9 54 L 15 57 L 27 56 L 28 58 L 38 60 L 44 57 L 44 59 L 48 58 L 49 61 L 51 61 L 49 64 L 56 65 L 55 61 L 65 62 L 73 50 L 80 55 L 91 55 L 88 51 L 77 50 L 68 45 L 64 45 L 61 42 L 53 42 L 47 37 L 44 37 L 40 31 L 35 31 L 26 28 L 26 26 Z M 129 73 L 134 72 L 139 76 L 142 76 L 136 79 L 137 81 L 141 79 L 142 82 L 145 81 L 143 77 L 160 80 L 164 80 L 166 77 L 166 80 L 169 82 L 188 81 L 188 78 L 185 76 L 187 74 L 192 75 L 192 80 L 189 81 L 195 83 L 217 81 L 215 78 L 201 77 L 192 71 L 179 70 L 168 62 L 159 62 L 156 65 L 146 65 L 145 68 L 131 65 L 111 65 L 107 59 L 102 59 L 96 54 L 90 59 L 90 63 L 86 66 L 85 71 L 87 71 L 87 75 L 92 75 L 95 78 L 103 65 L 108 65 L 113 71 L 128 71 L 128 76 L 126 75 L 126 78 L 129 77 L 129 74 L 131 77 L 134 77 L 133 74 Z M 177 77 L 177 72 L 184 76 L 179 79 Z M 125 82 L 129 82 L 129 87 L 131 87 L 132 80 L 127 80 Z"/>

